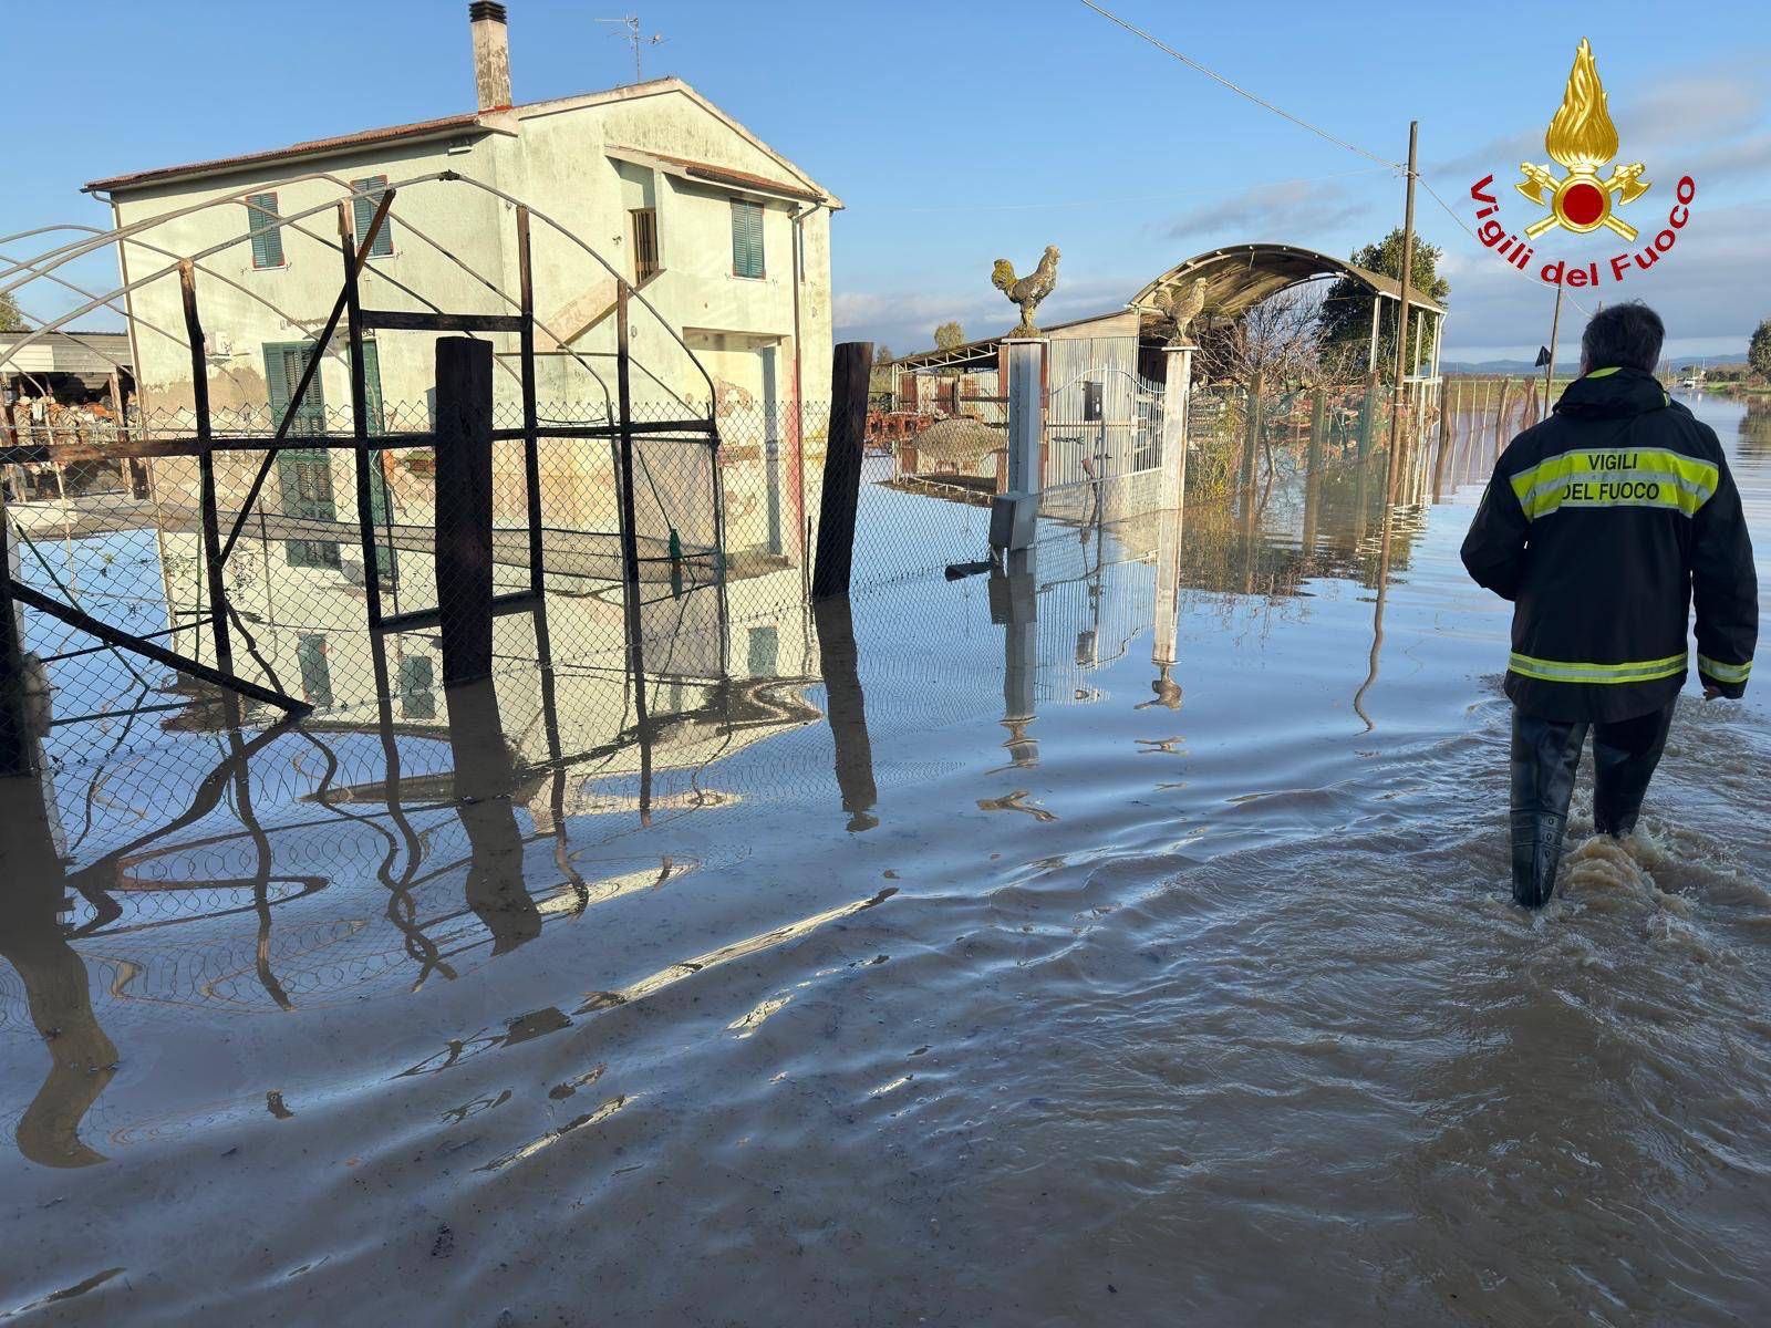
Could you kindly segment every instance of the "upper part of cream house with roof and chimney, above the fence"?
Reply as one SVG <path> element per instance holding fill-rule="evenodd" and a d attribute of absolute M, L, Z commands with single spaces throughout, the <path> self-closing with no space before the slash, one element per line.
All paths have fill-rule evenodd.
<path fill-rule="evenodd" d="M 119 227 L 163 221 L 119 244 L 128 285 L 198 255 L 211 400 L 276 407 L 290 352 L 324 324 L 342 283 L 331 211 L 273 227 L 269 218 L 335 204 L 349 189 L 452 172 L 462 181 L 400 188 L 390 228 L 363 278 L 372 308 L 420 310 L 423 297 L 460 313 L 510 313 L 487 289 L 519 290 L 514 205 L 522 200 L 597 250 L 657 310 L 632 315 L 636 400 L 707 398 L 707 382 L 671 336 L 705 365 L 724 402 L 790 405 L 829 395 L 831 212 L 841 202 L 678 78 L 512 104 L 505 12 L 471 5 L 478 106 L 471 112 L 87 184 Z M 204 207 L 204 204 L 220 204 Z M 352 207 L 367 225 L 372 202 Z M 299 228 L 298 228 L 299 227 Z M 260 234 L 244 239 L 248 230 Z M 303 234 L 306 232 L 306 234 Z M 613 351 L 613 282 L 549 225 L 533 232 L 538 397 L 600 402 L 567 349 L 597 363 Z M 232 243 L 230 243 L 232 241 Z M 416 292 L 416 294 L 413 294 Z M 136 381 L 147 411 L 191 404 L 189 352 L 175 274 L 129 294 Z M 383 333 L 365 356 L 370 395 L 421 405 L 432 386 L 430 336 Z M 515 363 L 515 336 L 494 335 Z M 611 384 L 613 368 L 602 377 Z M 498 391 L 515 400 L 515 375 Z M 349 367 L 335 338 L 319 379 L 329 413 L 349 405 Z M 319 404 L 308 402 L 317 407 Z M 545 411 L 544 411 L 545 413 Z M 398 429 L 397 420 L 388 421 Z"/>

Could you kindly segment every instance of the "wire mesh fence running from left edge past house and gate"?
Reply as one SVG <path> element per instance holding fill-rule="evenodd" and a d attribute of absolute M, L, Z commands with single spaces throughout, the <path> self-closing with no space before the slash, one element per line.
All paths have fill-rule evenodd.
<path fill-rule="evenodd" d="M 932 418 L 940 405 L 960 414 Z M 769 623 L 808 597 L 829 404 L 719 402 L 717 448 L 705 425 L 675 427 L 694 409 L 705 405 L 632 407 L 629 517 L 606 402 L 537 404 L 533 496 L 521 405 L 494 407 L 501 664 L 545 659 L 556 671 L 625 676 L 638 645 L 641 666 L 684 678 L 772 668 Z M 1436 405 L 1410 409 L 1413 425 L 1436 420 Z M 1288 466 L 1303 469 L 1305 453 L 1325 469 L 1369 459 L 1387 446 L 1388 411 L 1381 388 L 1195 390 L 1188 506 L 1231 510 L 1250 483 L 1272 487 Z M 1160 476 L 1172 464 L 1160 388 L 1139 382 L 1121 414 L 1048 420 L 1043 473 L 1070 478 L 1041 489 L 1043 540 L 1160 508 Z M 880 427 L 880 416 L 870 420 L 862 462 L 854 590 L 986 558 L 990 501 L 1006 487 L 1002 404 L 962 395 L 898 430 Z M 437 710 L 443 683 L 434 402 L 377 402 L 368 423 L 372 446 L 360 452 L 349 409 L 299 416 L 276 443 L 267 407 L 213 413 L 216 540 L 227 554 L 221 614 L 189 411 L 131 411 L 112 434 L 85 441 L 21 439 L 4 471 L 12 575 L 204 664 L 220 662 L 220 618 L 234 673 L 322 717 L 388 703 L 421 721 Z M 1410 453 L 1404 480 L 1417 483 L 1404 496 L 1431 478 L 1422 457 Z M 623 575 L 629 519 L 632 588 Z M 545 591 L 544 613 L 522 602 L 535 590 Z M 372 595 L 388 630 L 370 627 Z M 165 726 L 218 722 L 214 687 L 37 609 L 23 620 L 41 710 L 74 730 L 51 744 L 55 760 L 129 751 Z"/>

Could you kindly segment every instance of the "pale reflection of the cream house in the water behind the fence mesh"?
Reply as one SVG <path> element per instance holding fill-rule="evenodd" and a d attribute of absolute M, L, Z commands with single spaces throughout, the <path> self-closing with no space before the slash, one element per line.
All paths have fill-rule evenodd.
<path fill-rule="evenodd" d="M 354 577 L 328 560 L 290 567 L 287 540 L 251 531 L 248 526 L 228 560 L 236 668 L 315 705 L 321 714 L 306 722 L 310 730 L 372 724 L 384 676 L 391 719 L 402 731 L 446 733 L 436 630 L 384 634 L 377 660 L 375 634 L 363 625 L 363 591 Z M 209 660 L 213 645 L 200 618 L 205 595 L 198 537 L 168 531 L 159 545 L 168 622 L 191 623 L 172 637 L 174 648 Z M 398 600 L 400 586 L 411 588 L 420 606 L 434 604 L 434 554 L 413 547 L 398 549 L 397 558 L 397 579 L 384 591 L 390 613 L 406 607 Z M 526 563 L 499 563 L 496 572 L 499 590 L 526 584 Z M 567 753 L 622 747 L 620 735 L 632 737 L 638 721 L 620 581 L 551 575 L 545 625 L 554 668 L 544 673 L 535 666 L 535 618 L 510 614 L 494 623 L 499 710 L 507 731 L 521 735 L 515 756 L 524 763 L 551 760 L 545 728 L 531 722 L 547 699 L 544 682 Z M 710 694 L 723 694 L 739 706 L 733 717 L 739 731 L 767 722 L 781 706 L 767 699 L 765 683 L 795 676 L 816 653 L 806 614 L 735 623 L 723 613 L 717 584 L 641 583 L 641 630 L 648 680 L 643 699 L 659 730 L 650 735 L 653 745 L 661 737 L 669 740 L 664 745 L 694 745 L 689 740 L 692 726 L 664 722 L 664 717 L 701 714 Z M 630 760 L 615 758 L 607 768 L 627 768 Z M 694 758 L 684 760 L 692 763 Z"/>

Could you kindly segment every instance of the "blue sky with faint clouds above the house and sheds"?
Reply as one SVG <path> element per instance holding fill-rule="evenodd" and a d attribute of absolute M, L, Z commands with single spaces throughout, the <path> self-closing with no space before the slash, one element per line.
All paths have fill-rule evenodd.
<path fill-rule="evenodd" d="M 1291 4 L 1109 0 L 1128 21 L 1373 152 L 1401 158 L 1420 120 L 1422 175 L 1468 220 L 1486 170 L 1543 158 L 1573 51 L 1592 39 L 1622 136 L 1656 188 L 1698 179 L 1691 227 L 1633 294 L 1672 349 L 1744 349 L 1771 315 L 1771 18 L 1762 0 L 1665 4 Z M 597 0 L 508 0 L 519 101 L 632 78 Z M 276 14 L 273 32 L 262 21 Z M 1064 259 L 1043 317 L 1123 305 L 1217 244 L 1289 241 L 1348 253 L 1401 220 L 1401 179 L 1288 124 L 1077 0 L 829 5 L 648 0 L 646 74 L 680 74 L 838 193 L 839 336 L 914 351 L 944 319 L 1013 322 L 990 264 Z M 473 104 L 464 0 L 7 4 L 7 188 L 0 234 L 104 225 L 87 179 L 427 119 Z M 78 50 L 76 50 L 78 46 Z M 19 53 L 41 51 L 43 58 Z M 1511 216 L 1523 223 L 1523 200 Z M 1512 274 L 1422 195 L 1447 250 L 1458 358 L 1544 340 L 1551 292 Z M 5 248 L 19 257 L 23 244 Z M 1594 257 L 1605 253 L 1594 248 Z M 89 283 L 112 273 L 87 271 Z M 1590 296 L 1578 296 L 1590 306 Z M 35 313 L 51 299 L 30 292 Z M 1571 315 L 1578 333 L 1578 310 Z M 1571 345 L 1564 322 L 1564 345 Z"/>

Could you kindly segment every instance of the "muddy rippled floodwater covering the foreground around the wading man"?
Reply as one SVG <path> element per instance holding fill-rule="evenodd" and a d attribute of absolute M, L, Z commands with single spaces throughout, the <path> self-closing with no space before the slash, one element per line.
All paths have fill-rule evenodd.
<path fill-rule="evenodd" d="M 740 625 L 563 770 L 501 676 L 14 781 L 0 1317 L 1771 1321 L 1764 689 L 1516 910 L 1465 452 L 1381 639 L 1334 473 Z"/>

